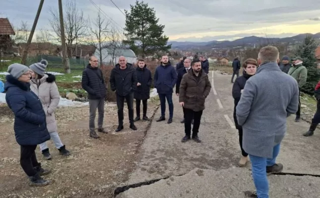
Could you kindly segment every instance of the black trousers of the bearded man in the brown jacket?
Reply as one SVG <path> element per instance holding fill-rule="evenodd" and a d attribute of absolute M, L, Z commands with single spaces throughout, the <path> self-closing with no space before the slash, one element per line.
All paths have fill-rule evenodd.
<path fill-rule="evenodd" d="M 199 133 L 200 121 L 203 111 L 193 111 L 191 109 L 185 108 L 185 133 L 186 136 L 191 136 L 191 121 L 193 118 L 193 128 L 192 137 L 197 137 Z"/>

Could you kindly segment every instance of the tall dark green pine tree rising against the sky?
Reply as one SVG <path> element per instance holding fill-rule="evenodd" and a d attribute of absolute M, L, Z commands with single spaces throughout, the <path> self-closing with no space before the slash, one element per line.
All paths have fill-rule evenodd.
<path fill-rule="evenodd" d="M 164 25 L 158 24 L 154 8 L 149 7 L 143 1 L 130 5 L 130 12 L 126 12 L 125 44 L 136 53 L 145 57 L 155 52 L 168 51 L 171 45 L 167 46 L 168 37 L 163 35 Z"/>

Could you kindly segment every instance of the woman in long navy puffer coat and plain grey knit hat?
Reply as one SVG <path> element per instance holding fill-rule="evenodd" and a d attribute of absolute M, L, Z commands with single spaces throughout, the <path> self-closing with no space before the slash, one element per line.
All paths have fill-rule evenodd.
<path fill-rule="evenodd" d="M 47 130 L 46 114 L 41 101 L 30 90 L 30 72 L 25 65 L 18 63 L 8 67 L 10 75 L 6 76 L 5 100 L 14 113 L 14 133 L 20 145 L 20 164 L 29 176 L 30 186 L 46 186 L 49 181 L 41 175 L 49 174 L 49 170 L 41 167 L 37 161 L 35 149 L 37 145 L 50 140 Z"/>

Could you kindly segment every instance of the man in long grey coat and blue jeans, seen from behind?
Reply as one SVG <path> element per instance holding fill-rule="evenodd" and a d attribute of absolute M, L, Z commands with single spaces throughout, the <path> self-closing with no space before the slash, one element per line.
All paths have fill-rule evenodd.
<path fill-rule="evenodd" d="M 275 161 L 287 117 L 298 110 L 298 83 L 280 70 L 278 61 L 277 48 L 267 46 L 260 50 L 256 75 L 247 81 L 237 105 L 243 148 L 249 153 L 256 186 L 256 193 L 246 192 L 251 198 L 269 198 L 267 175 L 283 170 L 283 165 Z"/>

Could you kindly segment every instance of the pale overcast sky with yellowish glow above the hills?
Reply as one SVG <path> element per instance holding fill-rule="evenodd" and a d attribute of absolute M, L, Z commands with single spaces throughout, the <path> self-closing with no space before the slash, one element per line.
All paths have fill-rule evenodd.
<path fill-rule="evenodd" d="M 125 16 L 111 0 L 92 0 L 119 29 Z M 113 0 L 124 12 L 135 0 Z M 1 17 L 18 24 L 33 23 L 40 0 L 0 0 Z M 165 34 L 173 41 L 235 40 L 246 36 L 287 37 L 320 32 L 319 0 L 144 0 L 156 10 Z M 90 0 L 76 0 L 86 16 L 98 9 Z M 58 0 L 45 0 L 37 29 L 48 28 L 50 8 Z"/>

